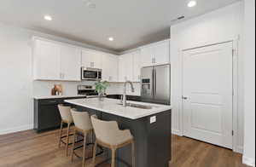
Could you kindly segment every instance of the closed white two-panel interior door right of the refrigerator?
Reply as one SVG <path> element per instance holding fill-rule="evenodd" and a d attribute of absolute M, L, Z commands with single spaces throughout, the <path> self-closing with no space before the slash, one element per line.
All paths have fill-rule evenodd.
<path fill-rule="evenodd" d="M 232 43 L 183 52 L 183 134 L 232 148 Z"/>

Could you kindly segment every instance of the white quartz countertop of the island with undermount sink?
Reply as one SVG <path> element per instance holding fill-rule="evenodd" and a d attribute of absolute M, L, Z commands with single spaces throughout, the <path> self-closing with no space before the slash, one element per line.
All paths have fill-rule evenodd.
<path fill-rule="evenodd" d="M 152 103 L 144 103 L 137 101 L 127 101 L 127 103 L 140 104 L 152 107 L 151 109 L 142 109 L 137 107 L 123 107 L 119 105 L 120 100 L 104 98 L 104 101 L 99 101 L 98 98 L 89 99 L 75 99 L 66 100 L 65 102 L 77 105 L 80 107 L 87 107 L 100 112 L 106 112 L 109 114 L 117 115 L 124 118 L 137 119 L 143 118 L 150 115 L 154 115 L 160 112 L 171 110 L 172 106 L 158 105 Z"/>

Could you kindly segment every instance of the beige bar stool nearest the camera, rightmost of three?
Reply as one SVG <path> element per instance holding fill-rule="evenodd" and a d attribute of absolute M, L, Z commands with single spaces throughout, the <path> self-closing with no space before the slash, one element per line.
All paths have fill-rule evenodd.
<path fill-rule="evenodd" d="M 102 121 L 96 118 L 95 115 L 91 116 L 91 123 L 96 133 L 96 143 L 94 145 L 94 153 L 92 159 L 93 167 L 96 166 L 96 147 L 100 145 L 107 147 L 112 151 L 111 167 L 115 166 L 115 153 L 116 150 L 131 145 L 132 167 L 135 167 L 135 143 L 130 130 L 119 130 L 117 122 Z"/>

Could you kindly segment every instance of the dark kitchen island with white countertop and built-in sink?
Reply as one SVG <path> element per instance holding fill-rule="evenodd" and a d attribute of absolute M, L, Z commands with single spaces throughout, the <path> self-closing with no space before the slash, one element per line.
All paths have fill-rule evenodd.
<path fill-rule="evenodd" d="M 135 139 L 137 167 L 168 167 L 172 150 L 171 106 L 127 101 L 128 106 L 123 107 L 119 100 L 108 98 L 104 101 L 90 98 L 65 102 L 81 112 L 96 114 L 102 120 L 117 121 L 121 130 L 131 130 Z M 117 158 L 131 164 L 131 147 L 120 148 Z M 126 165 L 117 162 L 117 166 Z"/>

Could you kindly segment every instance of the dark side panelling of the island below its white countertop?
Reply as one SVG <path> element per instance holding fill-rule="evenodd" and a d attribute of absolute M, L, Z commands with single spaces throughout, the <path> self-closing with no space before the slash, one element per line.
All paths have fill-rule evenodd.
<path fill-rule="evenodd" d="M 150 124 L 150 118 L 132 120 L 102 112 L 103 120 L 115 120 L 121 130 L 131 130 L 136 141 L 136 164 L 139 167 L 168 167 L 171 160 L 171 111 L 160 112 L 156 122 Z M 131 146 L 120 148 L 117 157 L 131 164 Z M 117 163 L 118 167 L 125 167 Z"/>

